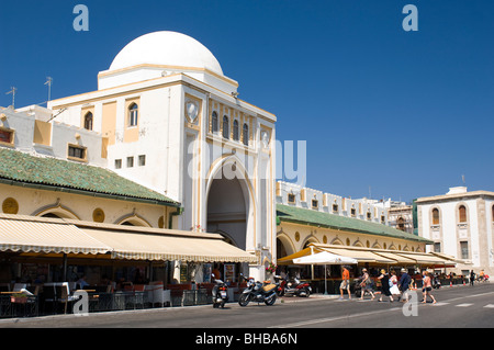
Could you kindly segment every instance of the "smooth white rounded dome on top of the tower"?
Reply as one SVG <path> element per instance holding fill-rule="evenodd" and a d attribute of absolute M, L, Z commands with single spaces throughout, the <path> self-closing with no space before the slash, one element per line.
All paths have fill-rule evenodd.
<path fill-rule="evenodd" d="M 177 32 L 154 32 L 137 37 L 116 55 L 110 70 L 144 64 L 207 68 L 223 76 L 220 63 L 204 45 Z"/>

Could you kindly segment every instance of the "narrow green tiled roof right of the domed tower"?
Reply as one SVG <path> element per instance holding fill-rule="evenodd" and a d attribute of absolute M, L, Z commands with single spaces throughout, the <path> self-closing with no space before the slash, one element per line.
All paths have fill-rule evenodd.
<path fill-rule="evenodd" d="M 428 239 L 382 224 L 291 205 L 277 204 L 277 219 L 279 222 L 296 223 L 315 227 L 321 226 L 338 230 L 388 236 L 431 244 Z"/>

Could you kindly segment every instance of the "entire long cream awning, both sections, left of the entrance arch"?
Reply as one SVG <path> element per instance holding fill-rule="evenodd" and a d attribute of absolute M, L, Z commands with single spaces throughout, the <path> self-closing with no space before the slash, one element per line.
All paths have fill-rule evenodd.
<path fill-rule="evenodd" d="M 0 251 L 110 253 L 113 259 L 258 262 L 217 234 L 0 214 Z"/>

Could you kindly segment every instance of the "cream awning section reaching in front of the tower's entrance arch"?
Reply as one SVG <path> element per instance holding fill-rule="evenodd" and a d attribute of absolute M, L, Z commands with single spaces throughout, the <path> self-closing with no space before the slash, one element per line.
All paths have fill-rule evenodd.
<path fill-rule="evenodd" d="M 112 247 L 112 258 L 128 260 L 182 260 L 193 262 L 257 262 L 258 258 L 224 240 L 220 235 L 191 233 L 137 233 L 117 229 L 81 228 Z M 188 235 L 186 235 L 188 234 Z"/>

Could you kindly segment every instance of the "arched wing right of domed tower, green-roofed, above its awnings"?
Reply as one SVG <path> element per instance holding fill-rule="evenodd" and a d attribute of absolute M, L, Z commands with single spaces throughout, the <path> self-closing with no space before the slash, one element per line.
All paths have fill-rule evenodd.
<path fill-rule="evenodd" d="M 431 242 L 386 225 L 388 207 L 380 202 L 345 199 L 294 183 L 277 182 L 277 211 L 278 258 L 311 244 L 425 252 Z"/>

